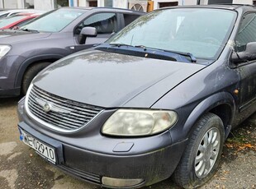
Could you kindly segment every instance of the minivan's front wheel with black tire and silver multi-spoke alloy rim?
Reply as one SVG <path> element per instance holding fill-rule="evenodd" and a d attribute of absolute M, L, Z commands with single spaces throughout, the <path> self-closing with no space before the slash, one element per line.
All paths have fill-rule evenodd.
<path fill-rule="evenodd" d="M 206 113 L 193 127 L 183 157 L 173 173 L 174 181 L 184 188 L 200 187 L 208 182 L 220 163 L 224 141 L 223 122 L 216 114 Z"/>

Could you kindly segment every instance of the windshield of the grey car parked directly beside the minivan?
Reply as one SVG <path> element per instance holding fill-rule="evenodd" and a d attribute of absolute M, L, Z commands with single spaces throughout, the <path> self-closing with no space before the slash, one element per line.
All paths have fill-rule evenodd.
<path fill-rule="evenodd" d="M 61 8 L 39 16 L 34 21 L 21 27 L 21 30 L 38 30 L 40 32 L 59 32 L 85 12 L 82 9 Z"/>

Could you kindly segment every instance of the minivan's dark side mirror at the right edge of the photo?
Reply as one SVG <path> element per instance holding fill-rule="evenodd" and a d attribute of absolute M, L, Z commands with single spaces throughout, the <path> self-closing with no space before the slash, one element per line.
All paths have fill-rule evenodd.
<path fill-rule="evenodd" d="M 256 42 L 246 44 L 243 52 L 233 52 L 231 58 L 234 63 L 256 60 Z"/>

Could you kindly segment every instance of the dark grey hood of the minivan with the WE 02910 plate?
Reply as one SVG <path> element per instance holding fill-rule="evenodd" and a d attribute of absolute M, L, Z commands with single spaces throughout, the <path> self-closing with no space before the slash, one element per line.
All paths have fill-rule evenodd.
<path fill-rule="evenodd" d="M 84 104 L 150 108 L 203 67 L 93 50 L 56 62 L 33 83 L 51 94 Z"/>

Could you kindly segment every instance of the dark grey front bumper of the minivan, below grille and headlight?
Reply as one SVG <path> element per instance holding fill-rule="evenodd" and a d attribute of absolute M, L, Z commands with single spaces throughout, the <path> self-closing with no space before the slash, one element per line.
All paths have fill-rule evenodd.
<path fill-rule="evenodd" d="M 97 140 L 94 140 L 93 136 L 84 137 L 83 140 L 80 140 L 80 143 L 83 141 L 83 147 L 81 147 L 80 144 L 78 146 L 76 138 L 63 140 L 61 135 L 53 133 L 49 135 L 47 131 L 42 131 L 41 128 L 37 129 L 36 122 L 28 118 L 26 113 L 18 111 L 18 114 L 21 120 L 18 127 L 45 144 L 55 147 L 58 168 L 102 187 L 116 187 L 114 184 L 104 184 L 102 181 L 106 177 L 120 180 L 140 179 L 142 181 L 134 186 L 124 188 L 148 186 L 170 177 L 187 144 L 187 140 L 176 144 L 166 142 L 170 141 L 167 131 L 159 136 L 122 139 L 124 141 L 122 145 L 117 144 L 119 147 L 121 146 L 121 150 L 112 145 L 113 141 L 121 141 L 120 139 L 105 136 L 98 136 L 100 138 Z M 37 124 L 40 127 L 39 123 Z M 92 150 L 89 143 L 97 150 Z M 130 145 L 131 143 L 132 145 Z M 156 149 L 155 145 L 159 147 Z M 98 150 L 98 146 L 102 146 L 102 150 Z M 110 146 L 114 146 L 114 148 Z"/>

